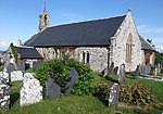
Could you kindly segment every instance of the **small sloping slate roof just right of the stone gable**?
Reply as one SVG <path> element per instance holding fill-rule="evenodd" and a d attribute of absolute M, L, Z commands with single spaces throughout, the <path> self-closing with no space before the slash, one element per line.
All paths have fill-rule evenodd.
<path fill-rule="evenodd" d="M 155 51 L 155 48 L 152 47 L 145 38 L 142 38 L 140 35 L 139 35 L 139 38 L 140 38 L 140 41 L 141 41 L 141 49 L 142 50 L 154 50 Z"/>

